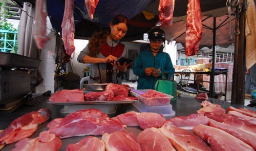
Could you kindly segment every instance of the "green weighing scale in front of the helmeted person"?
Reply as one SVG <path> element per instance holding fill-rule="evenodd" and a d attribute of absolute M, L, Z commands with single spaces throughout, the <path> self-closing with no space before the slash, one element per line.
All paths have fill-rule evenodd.
<path fill-rule="evenodd" d="M 168 95 L 172 95 L 174 98 L 171 101 L 177 100 L 177 82 L 175 80 L 168 80 L 168 74 L 173 73 L 160 73 L 162 74 L 162 79 L 157 80 L 155 85 L 155 90 L 163 92 Z"/>

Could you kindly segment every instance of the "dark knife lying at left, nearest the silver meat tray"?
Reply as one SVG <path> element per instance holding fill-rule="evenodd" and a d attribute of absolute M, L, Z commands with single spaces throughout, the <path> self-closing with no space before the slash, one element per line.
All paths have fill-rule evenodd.
<path fill-rule="evenodd" d="M 37 96 L 37 97 L 27 100 L 23 105 L 26 105 L 26 106 L 38 105 L 38 104 L 44 102 L 45 100 L 47 100 L 51 96 L 51 93 L 52 92 L 50 90 L 48 90 L 47 92 L 43 93 L 40 96 Z"/>

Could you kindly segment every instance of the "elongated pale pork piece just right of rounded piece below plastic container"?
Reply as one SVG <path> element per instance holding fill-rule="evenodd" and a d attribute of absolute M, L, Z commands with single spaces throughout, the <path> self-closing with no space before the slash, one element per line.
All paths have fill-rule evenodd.
<path fill-rule="evenodd" d="M 202 114 L 194 113 L 190 114 L 189 116 L 179 116 L 169 119 L 169 121 L 173 122 L 175 126 L 186 129 L 192 130 L 194 126 L 199 124 L 208 125 L 209 119 Z"/>

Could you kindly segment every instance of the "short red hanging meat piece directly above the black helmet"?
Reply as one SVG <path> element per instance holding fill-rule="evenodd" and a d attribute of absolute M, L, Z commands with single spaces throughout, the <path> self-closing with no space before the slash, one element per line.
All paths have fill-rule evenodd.
<path fill-rule="evenodd" d="M 158 11 L 162 26 L 170 26 L 173 23 L 175 0 L 160 0 Z"/>

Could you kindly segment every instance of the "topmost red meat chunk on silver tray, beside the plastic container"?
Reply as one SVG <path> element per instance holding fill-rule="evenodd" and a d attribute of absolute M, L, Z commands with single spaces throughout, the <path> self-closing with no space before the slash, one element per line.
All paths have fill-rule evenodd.
<path fill-rule="evenodd" d="M 108 85 L 106 85 L 105 90 L 111 90 L 114 93 L 114 96 L 118 96 L 118 95 L 124 95 L 124 96 L 128 96 L 130 90 L 127 89 L 127 87 L 130 87 L 127 84 L 114 84 L 114 83 L 109 83 Z"/>

